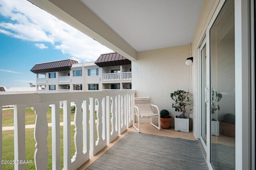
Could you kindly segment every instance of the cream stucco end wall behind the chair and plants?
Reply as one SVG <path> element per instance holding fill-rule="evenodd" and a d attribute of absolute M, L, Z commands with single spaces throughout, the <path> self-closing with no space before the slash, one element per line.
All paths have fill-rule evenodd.
<path fill-rule="evenodd" d="M 138 60 L 132 61 L 132 89 L 136 90 L 136 97 L 149 96 L 160 110 L 167 109 L 172 117 L 180 115 L 172 108 L 170 93 L 190 90 L 190 66 L 185 64 L 188 57 L 189 45 L 138 52 Z"/>

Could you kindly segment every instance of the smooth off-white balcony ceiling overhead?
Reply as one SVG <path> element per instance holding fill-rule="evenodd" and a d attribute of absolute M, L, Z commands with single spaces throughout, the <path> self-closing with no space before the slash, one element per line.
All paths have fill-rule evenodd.
<path fill-rule="evenodd" d="M 192 42 L 204 0 L 81 0 L 136 51 Z"/>

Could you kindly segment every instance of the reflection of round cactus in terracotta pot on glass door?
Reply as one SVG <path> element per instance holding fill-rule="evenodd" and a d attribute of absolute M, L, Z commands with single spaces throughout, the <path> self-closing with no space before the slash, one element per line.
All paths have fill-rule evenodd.
<path fill-rule="evenodd" d="M 223 120 L 220 121 L 222 134 L 227 137 L 236 137 L 236 116 L 231 113 L 226 113 Z"/>

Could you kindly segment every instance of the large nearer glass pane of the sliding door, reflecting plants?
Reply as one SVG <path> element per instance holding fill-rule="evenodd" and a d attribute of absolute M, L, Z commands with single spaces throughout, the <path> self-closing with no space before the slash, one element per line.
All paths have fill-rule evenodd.
<path fill-rule="evenodd" d="M 234 1 L 222 6 L 210 28 L 211 146 L 215 170 L 235 169 Z"/>

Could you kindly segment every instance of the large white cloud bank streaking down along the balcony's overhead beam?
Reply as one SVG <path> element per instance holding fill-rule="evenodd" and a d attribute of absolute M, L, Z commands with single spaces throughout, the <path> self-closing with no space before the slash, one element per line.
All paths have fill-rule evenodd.
<path fill-rule="evenodd" d="M 27 0 L 0 0 L 0 14 L 12 20 L 0 22 L 0 33 L 27 41 L 51 43 L 70 58 L 95 61 L 101 53 L 112 52 Z"/>

